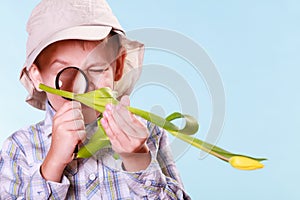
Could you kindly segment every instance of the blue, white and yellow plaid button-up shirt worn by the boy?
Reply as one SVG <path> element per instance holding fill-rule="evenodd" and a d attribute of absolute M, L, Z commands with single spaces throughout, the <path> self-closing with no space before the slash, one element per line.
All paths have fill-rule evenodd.
<path fill-rule="evenodd" d="M 167 133 L 147 123 L 152 160 L 146 170 L 122 170 L 111 148 L 88 159 L 73 160 L 60 183 L 45 180 L 40 166 L 51 143 L 54 111 L 44 121 L 19 130 L 0 152 L 0 199 L 190 199 L 176 170 Z"/>

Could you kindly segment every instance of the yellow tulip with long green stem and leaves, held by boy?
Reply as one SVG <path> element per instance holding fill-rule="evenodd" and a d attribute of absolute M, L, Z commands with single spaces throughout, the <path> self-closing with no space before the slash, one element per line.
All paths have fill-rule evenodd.
<path fill-rule="evenodd" d="M 100 88 L 95 91 L 91 91 L 84 94 L 74 94 L 71 92 L 63 91 L 63 90 L 57 90 L 51 87 L 48 87 L 46 85 L 40 84 L 40 89 L 44 90 L 45 92 L 49 92 L 52 94 L 56 94 L 65 98 L 73 99 L 76 101 L 79 101 L 99 112 L 104 112 L 105 106 L 108 103 L 112 104 L 118 104 L 119 101 L 115 98 L 115 93 L 110 88 Z M 230 162 L 230 161 L 239 161 L 239 162 L 231 162 L 230 164 L 237 168 L 237 169 L 245 169 L 245 170 L 253 170 L 253 169 L 259 169 L 262 168 L 262 164 L 258 165 L 257 162 L 261 162 L 263 160 L 266 160 L 265 158 L 253 158 L 246 155 L 240 155 L 240 154 L 233 154 L 229 151 L 226 151 L 224 149 L 221 149 L 215 145 L 206 143 L 198 138 L 191 137 L 190 135 L 195 134 L 199 129 L 199 124 L 197 120 L 186 114 L 181 114 L 178 112 L 174 112 L 171 115 L 169 115 L 166 118 L 162 118 L 158 115 L 155 115 L 153 113 L 133 108 L 128 106 L 127 109 L 135 114 L 138 115 L 153 124 L 165 129 L 170 134 L 172 134 L 174 137 L 177 137 L 192 146 L 201 149 L 223 161 Z M 180 129 L 176 125 L 174 125 L 171 121 L 175 119 L 182 118 L 185 120 L 185 126 Z M 79 158 L 88 158 L 92 156 L 94 153 L 96 153 L 101 148 L 105 148 L 110 145 L 109 138 L 106 136 L 104 129 L 102 128 L 100 122 L 98 121 L 98 130 L 96 133 L 92 136 L 89 143 L 83 146 L 79 152 L 78 157 Z M 231 159 L 234 158 L 234 159 Z M 238 158 L 238 159 L 236 159 Z M 241 159 L 242 158 L 242 159 Z M 255 161 L 255 162 L 251 162 Z M 236 164 L 238 163 L 238 164 Z M 250 163 L 250 164 L 249 164 Z M 253 163 L 253 165 L 251 165 Z M 244 167 L 247 166 L 247 167 Z"/>

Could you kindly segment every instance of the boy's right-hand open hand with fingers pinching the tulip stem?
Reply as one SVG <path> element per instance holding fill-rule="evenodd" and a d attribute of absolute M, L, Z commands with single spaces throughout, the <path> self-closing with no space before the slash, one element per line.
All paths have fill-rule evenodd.
<path fill-rule="evenodd" d="M 129 104 L 128 96 L 123 96 L 117 106 L 108 104 L 101 124 L 126 170 L 138 171 L 147 168 L 151 160 L 146 144 L 149 132 L 145 124 L 126 109 Z"/>

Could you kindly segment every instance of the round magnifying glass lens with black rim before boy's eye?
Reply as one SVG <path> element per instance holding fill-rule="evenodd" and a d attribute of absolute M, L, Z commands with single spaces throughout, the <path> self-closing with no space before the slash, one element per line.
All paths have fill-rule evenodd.
<path fill-rule="evenodd" d="M 67 67 L 57 74 L 55 86 L 60 90 L 82 94 L 87 91 L 88 81 L 81 69 L 77 67 Z"/>

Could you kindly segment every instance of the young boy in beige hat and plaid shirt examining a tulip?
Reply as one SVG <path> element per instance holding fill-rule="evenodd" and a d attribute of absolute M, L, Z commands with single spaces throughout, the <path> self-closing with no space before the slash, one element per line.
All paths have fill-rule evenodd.
<path fill-rule="evenodd" d="M 167 133 L 125 108 L 140 74 L 143 45 L 125 38 L 106 2 L 43 0 L 27 31 L 20 79 L 29 91 L 27 102 L 46 110 L 46 117 L 4 142 L 0 199 L 189 199 Z M 121 99 L 102 113 L 111 148 L 88 159 L 74 159 L 74 150 L 88 140 L 86 125 L 92 127 L 99 113 L 39 89 L 40 83 L 55 87 L 57 74 L 70 66 L 85 72 L 89 91 L 110 87 Z"/>

